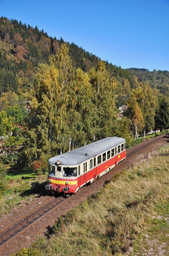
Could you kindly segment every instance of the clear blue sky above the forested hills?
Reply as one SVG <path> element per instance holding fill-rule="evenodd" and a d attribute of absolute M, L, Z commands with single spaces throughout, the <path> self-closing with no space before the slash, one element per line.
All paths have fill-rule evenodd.
<path fill-rule="evenodd" d="M 122 68 L 169 70 L 169 0 L 0 0 L 1 16 Z"/>

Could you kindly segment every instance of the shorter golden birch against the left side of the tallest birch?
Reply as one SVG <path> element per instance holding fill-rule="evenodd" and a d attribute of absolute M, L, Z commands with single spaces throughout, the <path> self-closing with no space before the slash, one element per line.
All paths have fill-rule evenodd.
<path fill-rule="evenodd" d="M 27 140 L 24 145 L 29 163 L 33 159 L 39 159 L 42 152 L 49 154 L 54 148 L 58 128 L 57 122 L 54 122 L 54 114 L 57 113 L 54 104 L 59 96 L 57 76 L 56 68 L 41 64 L 34 77 L 30 112 L 26 122 Z"/>

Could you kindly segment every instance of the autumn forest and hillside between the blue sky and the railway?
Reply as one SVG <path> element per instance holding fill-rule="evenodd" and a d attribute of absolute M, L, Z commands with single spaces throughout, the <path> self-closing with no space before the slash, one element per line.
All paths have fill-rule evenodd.
<path fill-rule="evenodd" d="M 122 69 L 1 17 L 3 162 L 29 165 L 107 136 L 129 145 L 138 134 L 168 129 L 168 86 L 168 71 Z"/>

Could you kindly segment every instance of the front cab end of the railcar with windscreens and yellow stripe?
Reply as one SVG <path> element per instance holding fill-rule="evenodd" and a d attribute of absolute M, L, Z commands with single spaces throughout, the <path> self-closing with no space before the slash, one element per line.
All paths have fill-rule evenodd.
<path fill-rule="evenodd" d="M 52 193 L 73 194 L 77 186 L 77 166 L 60 164 L 58 160 L 55 164 L 48 165 L 48 184 L 45 188 Z"/>

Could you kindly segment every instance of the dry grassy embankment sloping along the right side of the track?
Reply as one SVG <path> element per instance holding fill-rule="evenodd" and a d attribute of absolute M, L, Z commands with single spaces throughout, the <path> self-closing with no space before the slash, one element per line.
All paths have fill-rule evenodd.
<path fill-rule="evenodd" d="M 168 255 L 169 145 L 149 156 L 59 218 L 53 234 L 26 252 L 42 256 Z"/>

